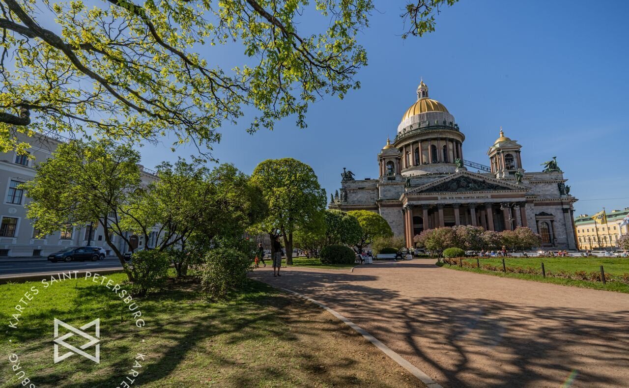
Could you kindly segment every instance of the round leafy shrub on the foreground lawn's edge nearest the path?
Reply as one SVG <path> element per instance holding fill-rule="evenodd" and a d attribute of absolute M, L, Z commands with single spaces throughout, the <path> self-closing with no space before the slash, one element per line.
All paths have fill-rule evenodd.
<path fill-rule="evenodd" d="M 203 291 L 213 301 L 224 299 L 230 290 L 242 287 L 252 269 L 247 253 L 232 248 L 209 250 L 201 265 Z"/>

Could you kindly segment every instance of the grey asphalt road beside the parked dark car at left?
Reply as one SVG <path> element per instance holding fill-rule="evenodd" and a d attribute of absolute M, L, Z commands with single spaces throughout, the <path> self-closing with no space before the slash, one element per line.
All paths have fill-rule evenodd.
<path fill-rule="evenodd" d="M 62 272 L 67 270 L 90 270 L 90 269 L 122 269 L 120 260 L 117 257 L 106 257 L 97 262 L 57 262 L 52 263 L 47 260 L 19 259 L 1 260 L 0 277 L 8 275 L 26 274 L 47 274 L 49 272 Z"/>

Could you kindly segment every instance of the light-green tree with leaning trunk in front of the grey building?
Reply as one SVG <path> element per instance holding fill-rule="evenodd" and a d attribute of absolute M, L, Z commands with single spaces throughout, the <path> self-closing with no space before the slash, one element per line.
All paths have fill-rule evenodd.
<path fill-rule="evenodd" d="M 140 187 L 140 154 L 111 140 L 60 144 L 52 158 L 36 166 L 33 180 L 23 184 L 32 201 L 26 216 L 43 234 L 62 230 L 69 224 L 99 223 L 105 231 L 129 244 L 120 214 Z M 125 259 L 104 233 L 105 241 L 125 266 Z M 129 279 L 133 275 L 127 271 Z"/>

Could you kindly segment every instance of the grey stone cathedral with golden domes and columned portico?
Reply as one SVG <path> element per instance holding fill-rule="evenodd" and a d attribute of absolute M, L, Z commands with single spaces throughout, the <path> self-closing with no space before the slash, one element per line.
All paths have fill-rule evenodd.
<path fill-rule="evenodd" d="M 407 247 L 423 230 L 474 225 L 494 231 L 528 226 L 542 236 L 542 248 L 577 248 L 577 199 L 555 157 L 542 163 L 543 171 L 525 172 L 521 145 L 500 128 L 487 166 L 464 159 L 464 141 L 454 116 L 430 99 L 422 80 L 396 137 L 378 154 L 379 178 L 357 180 L 344 168 L 329 208 L 375 211 Z"/>

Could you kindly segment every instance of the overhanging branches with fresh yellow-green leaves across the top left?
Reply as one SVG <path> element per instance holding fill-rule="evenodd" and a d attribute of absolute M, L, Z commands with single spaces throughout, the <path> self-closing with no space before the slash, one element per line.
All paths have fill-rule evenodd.
<path fill-rule="evenodd" d="M 409 1 L 409 33 L 434 29 L 453 0 Z M 1 0 L 0 150 L 18 131 L 96 131 L 110 138 L 173 135 L 211 145 L 218 128 L 259 112 L 250 131 L 294 116 L 304 127 L 321 94 L 344 97 L 367 64 L 356 36 L 371 0 L 45 2 Z M 54 21 L 48 29 L 45 23 Z M 304 31 L 315 26 L 316 32 Z M 323 26 L 323 28 L 320 28 Z M 216 65 L 214 45 L 236 42 L 250 58 Z M 204 52 L 199 50 L 203 45 Z M 209 47 L 208 47 L 209 46 Z M 235 46 L 236 47 L 236 46 Z"/>

